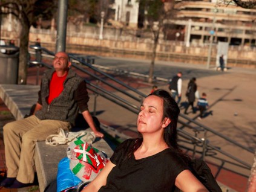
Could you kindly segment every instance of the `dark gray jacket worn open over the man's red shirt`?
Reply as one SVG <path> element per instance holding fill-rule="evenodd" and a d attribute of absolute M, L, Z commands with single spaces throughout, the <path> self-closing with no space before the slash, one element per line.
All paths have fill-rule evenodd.
<path fill-rule="evenodd" d="M 35 115 L 40 120 L 68 121 L 71 125 L 74 125 L 74 121 L 79 110 L 75 100 L 75 95 L 77 95 L 76 90 L 84 79 L 79 77 L 70 69 L 64 82 L 63 91 L 58 97 L 54 98 L 50 104 L 48 104 L 47 98 L 49 95 L 49 85 L 53 72 L 54 70 L 46 71 L 42 76 L 41 89 L 38 93 L 38 103 L 42 104 L 42 109 L 38 110 Z M 84 89 L 87 94 L 86 84 Z M 88 94 L 84 95 L 84 97 L 87 97 L 85 100 L 85 109 L 87 109 L 87 101 L 89 100 Z"/>

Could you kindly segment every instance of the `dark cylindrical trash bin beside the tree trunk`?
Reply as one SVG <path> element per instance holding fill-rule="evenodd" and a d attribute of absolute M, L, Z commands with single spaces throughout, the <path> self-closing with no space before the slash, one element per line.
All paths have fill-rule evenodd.
<path fill-rule="evenodd" d="M 1 46 L 0 51 L 0 84 L 17 84 L 19 71 L 19 48 Z"/>

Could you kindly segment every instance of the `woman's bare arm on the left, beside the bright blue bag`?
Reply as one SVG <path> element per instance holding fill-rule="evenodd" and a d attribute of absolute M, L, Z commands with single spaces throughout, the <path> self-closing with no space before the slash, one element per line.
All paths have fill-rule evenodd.
<path fill-rule="evenodd" d="M 108 161 L 107 165 L 102 169 L 102 171 L 100 171 L 100 173 L 97 175 L 97 177 L 95 179 L 93 179 L 93 181 L 89 185 L 87 185 L 87 187 L 85 187 L 84 190 L 82 190 L 82 192 L 99 191 L 100 187 L 102 187 L 103 185 L 106 185 L 107 176 L 110 173 L 110 171 L 112 170 L 112 168 L 115 166 L 116 165 L 113 164 L 111 161 Z"/>

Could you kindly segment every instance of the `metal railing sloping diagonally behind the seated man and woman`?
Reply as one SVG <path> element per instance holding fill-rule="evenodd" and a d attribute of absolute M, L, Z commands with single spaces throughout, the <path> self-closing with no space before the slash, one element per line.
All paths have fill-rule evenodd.
<path fill-rule="evenodd" d="M 37 49 L 35 46 L 30 46 L 32 49 Z M 51 51 L 46 50 L 45 48 L 40 48 L 42 51 L 43 56 L 51 57 L 53 58 L 54 53 Z M 45 54 L 45 55 L 44 55 Z M 96 105 L 97 105 L 97 97 L 100 95 L 116 104 L 119 104 L 119 106 L 124 107 L 127 110 L 130 110 L 131 112 L 137 114 L 139 112 L 139 106 L 143 98 L 146 97 L 145 94 L 143 94 L 140 91 L 137 91 L 137 89 L 131 88 L 130 86 L 126 85 L 125 83 L 117 80 L 116 78 L 112 77 L 111 75 L 107 74 L 107 72 L 103 72 L 103 70 L 107 71 L 114 71 L 114 72 L 121 72 L 122 74 L 129 74 L 129 75 L 134 75 L 134 77 L 142 77 L 142 78 L 147 78 L 147 75 L 143 74 L 138 74 L 134 72 L 129 72 L 125 70 L 120 70 L 120 69 L 111 69 L 111 68 L 106 68 L 105 66 L 99 66 L 99 65 L 91 65 L 90 63 L 85 62 L 83 59 L 80 59 L 79 57 L 74 56 L 73 54 L 69 55 L 71 60 L 72 60 L 72 66 L 76 68 L 79 71 L 84 72 L 85 74 L 89 75 L 90 77 L 93 78 L 93 81 L 86 80 L 88 84 L 88 89 L 92 92 L 94 92 L 94 112 L 96 111 Z M 39 65 L 39 66 L 45 66 L 47 68 L 51 68 L 50 65 L 47 65 L 46 63 L 43 62 L 35 62 L 32 61 L 30 63 Z M 86 69 L 85 67 L 86 66 Z M 93 72 L 90 72 L 90 70 Z M 112 80 L 116 84 L 122 86 L 122 88 L 119 88 L 113 83 L 109 83 L 108 81 L 104 80 L 100 75 L 103 77 L 107 77 L 108 81 Z M 168 82 L 168 79 L 165 78 L 158 78 L 154 77 L 155 80 L 163 81 L 163 82 Z M 93 83 L 94 82 L 94 83 Z M 95 83 L 96 82 L 96 83 Z M 107 91 L 104 89 L 102 86 L 99 86 L 99 82 L 103 83 L 104 85 L 109 86 L 110 88 L 114 89 L 116 92 L 122 93 L 123 95 L 126 95 L 126 97 L 130 98 L 130 100 L 125 100 L 125 98 L 120 97 L 116 94 L 114 94 L 113 91 Z M 128 90 L 128 91 L 126 91 Z M 134 95 L 136 94 L 136 95 Z M 131 99 L 133 101 L 131 101 Z M 135 102 L 135 103 L 134 103 Z M 254 154 L 254 151 L 250 149 L 249 147 L 243 146 L 240 143 L 232 140 L 231 138 L 228 138 L 228 136 L 222 135 L 219 132 L 216 132 L 214 129 L 211 129 L 208 126 L 205 126 L 191 118 L 189 118 L 186 115 L 180 114 L 179 118 L 179 124 L 181 125 L 178 127 L 178 134 L 180 136 L 180 143 L 183 143 L 181 147 L 183 149 L 186 149 L 188 152 L 192 152 L 192 157 L 195 158 L 195 156 L 200 155 L 200 158 L 205 159 L 206 157 L 211 157 L 214 159 L 217 159 L 218 161 L 221 162 L 219 165 L 219 170 L 225 165 L 225 164 L 232 164 L 235 166 L 238 166 L 240 168 L 245 168 L 246 170 L 250 170 L 251 165 L 249 165 L 247 162 L 235 157 L 234 155 L 231 155 L 229 152 L 225 152 L 224 150 L 220 149 L 218 146 L 213 146 L 211 142 L 209 141 L 208 138 L 208 133 L 212 133 L 215 136 L 218 136 L 219 138 L 224 139 L 225 141 L 231 143 L 234 146 L 239 147 L 240 149 L 246 150 L 249 153 Z M 184 128 L 188 128 L 191 131 L 186 131 Z M 222 155 L 222 156 L 220 156 Z M 225 158 L 224 158 L 224 157 Z M 231 159 L 228 160 L 228 159 Z M 227 168 L 228 169 L 228 168 Z M 234 171 L 234 170 L 233 170 Z M 217 174 L 218 174 L 217 173 Z M 216 174 L 216 175 L 217 175 Z"/>

